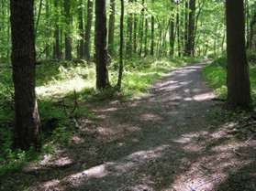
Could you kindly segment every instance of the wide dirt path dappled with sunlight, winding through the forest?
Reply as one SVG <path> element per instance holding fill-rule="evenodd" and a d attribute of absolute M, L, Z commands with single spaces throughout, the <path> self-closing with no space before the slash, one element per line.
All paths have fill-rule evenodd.
<path fill-rule="evenodd" d="M 133 101 L 87 103 L 98 120 L 80 118 L 69 146 L 0 190 L 255 191 L 255 137 L 235 137 L 239 122 L 223 118 L 205 66 L 176 69 Z"/>

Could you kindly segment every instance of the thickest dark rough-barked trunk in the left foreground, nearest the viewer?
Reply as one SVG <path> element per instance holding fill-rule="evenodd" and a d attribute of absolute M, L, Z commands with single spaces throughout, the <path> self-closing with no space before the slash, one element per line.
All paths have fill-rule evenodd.
<path fill-rule="evenodd" d="M 39 111 L 35 92 L 34 1 L 11 0 L 12 65 L 15 87 L 15 145 L 39 148 Z"/>

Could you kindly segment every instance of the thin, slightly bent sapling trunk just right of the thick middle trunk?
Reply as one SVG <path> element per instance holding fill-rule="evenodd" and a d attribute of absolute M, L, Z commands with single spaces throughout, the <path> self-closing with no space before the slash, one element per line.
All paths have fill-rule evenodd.
<path fill-rule="evenodd" d="M 124 58 L 123 58 L 123 47 L 124 47 L 124 15 L 125 15 L 124 0 L 121 0 L 121 16 L 120 16 L 120 50 L 119 50 L 119 72 L 117 80 L 117 88 L 121 89 L 123 70 L 124 70 Z"/>

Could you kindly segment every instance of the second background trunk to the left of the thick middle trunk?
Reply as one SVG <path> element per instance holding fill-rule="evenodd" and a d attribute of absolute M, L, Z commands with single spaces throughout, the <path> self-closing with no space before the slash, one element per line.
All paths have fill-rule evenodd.
<path fill-rule="evenodd" d="M 78 42 L 78 58 L 84 58 L 84 38 L 83 38 L 83 0 L 80 0 L 78 8 L 79 34 L 80 40 Z"/>

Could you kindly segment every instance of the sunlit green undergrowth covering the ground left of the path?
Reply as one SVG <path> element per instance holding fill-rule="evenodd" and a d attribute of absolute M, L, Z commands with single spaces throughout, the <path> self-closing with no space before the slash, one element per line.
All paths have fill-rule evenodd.
<path fill-rule="evenodd" d="M 15 150 L 13 144 L 14 90 L 11 68 L 0 70 L 0 176 L 21 168 L 29 161 L 38 160 L 42 154 L 53 153 L 59 146 L 70 142 L 76 131 L 76 119 L 86 117 L 96 120 L 86 108 L 88 102 L 104 102 L 114 99 L 133 99 L 147 93 L 151 84 L 161 76 L 187 63 L 198 62 L 197 58 L 132 58 L 126 61 L 123 86 L 95 90 L 95 65 L 84 62 L 40 62 L 37 66 L 37 95 L 42 123 L 43 147 L 40 153 L 32 148 L 28 152 Z M 111 83 L 117 81 L 118 61 L 109 67 Z"/>

